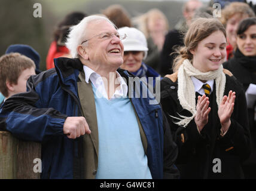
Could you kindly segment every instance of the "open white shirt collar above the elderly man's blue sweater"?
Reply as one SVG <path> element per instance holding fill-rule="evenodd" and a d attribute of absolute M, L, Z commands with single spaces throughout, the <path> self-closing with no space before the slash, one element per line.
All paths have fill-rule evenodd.
<path fill-rule="evenodd" d="M 84 73 L 86 75 L 86 83 L 89 84 L 89 79 L 92 82 L 92 84 L 94 85 L 94 87 L 96 88 L 96 96 L 99 97 L 105 97 L 106 99 L 108 99 L 108 94 L 106 93 L 106 89 L 103 83 L 103 78 L 96 73 L 95 71 L 93 71 L 92 69 L 90 69 L 90 67 L 88 66 L 83 66 L 84 67 Z M 114 74 L 114 73 L 113 73 Z M 118 98 L 118 97 L 125 97 L 127 96 L 127 92 L 128 92 L 128 86 L 126 84 L 126 82 L 124 81 L 124 79 L 121 77 L 120 73 L 118 73 L 117 71 L 115 72 L 115 74 L 118 76 L 115 79 L 115 82 L 112 83 L 112 85 L 114 86 L 114 84 L 120 84 L 119 87 L 116 88 L 115 93 L 112 95 L 112 98 Z M 111 73 L 109 74 L 111 75 Z M 111 80 L 111 77 L 109 78 Z M 110 87 L 110 88 L 114 88 L 114 87 Z"/>

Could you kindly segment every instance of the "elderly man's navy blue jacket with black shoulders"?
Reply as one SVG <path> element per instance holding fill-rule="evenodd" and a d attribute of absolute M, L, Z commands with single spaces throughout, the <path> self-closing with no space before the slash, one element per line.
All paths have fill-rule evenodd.
<path fill-rule="evenodd" d="M 23 140 L 42 143 L 41 178 L 84 177 L 83 136 L 72 140 L 63 134 L 68 116 L 82 116 L 77 86 L 80 71 L 83 64 L 79 59 L 57 58 L 55 69 L 29 78 L 28 91 L 8 98 L 0 108 L 1 127 Z M 129 82 L 130 73 L 118 72 Z M 131 98 L 147 137 L 148 167 L 153 178 L 172 178 L 178 172 L 173 168 L 176 144 L 160 105 L 151 105 L 149 100 Z"/>

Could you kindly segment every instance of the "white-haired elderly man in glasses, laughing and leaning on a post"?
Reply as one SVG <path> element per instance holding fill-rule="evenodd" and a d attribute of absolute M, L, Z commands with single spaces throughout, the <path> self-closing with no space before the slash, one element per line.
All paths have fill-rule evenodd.
<path fill-rule="evenodd" d="M 118 69 L 125 37 L 105 17 L 85 17 L 66 42 L 73 58 L 54 59 L 1 106 L 5 130 L 42 143 L 41 178 L 178 177 L 160 105 L 135 97 L 132 74 Z"/>

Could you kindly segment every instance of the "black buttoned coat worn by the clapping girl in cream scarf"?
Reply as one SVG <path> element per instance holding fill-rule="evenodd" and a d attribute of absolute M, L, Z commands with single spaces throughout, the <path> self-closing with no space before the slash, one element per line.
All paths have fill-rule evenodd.
<path fill-rule="evenodd" d="M 215 91 L 209 99 L 211 112 L 203 130 L 199 133 L 194 120 L 186 128 L 179 127 L 171 116 L 179 117 L 177 113 L 191 116 L 191 113 L 182 109 L 179 103 L 177 73 L 167 76 L 169 78 L 164 77 L 161 81 L 161 104 L 178 144 L 176 165 L 181 178 L 243 178 L 241 162 L 248 158 L 251 149 L 245 94 L 240 85 L 233 77 L 225 75 L 227 80 L 224 95 L 233 90 L 236 92 L 236 101 L 231 126 L 224 137 L 221 137 Z M 215 158 L 221 161 L 221 172 L 213 171 Z"/>

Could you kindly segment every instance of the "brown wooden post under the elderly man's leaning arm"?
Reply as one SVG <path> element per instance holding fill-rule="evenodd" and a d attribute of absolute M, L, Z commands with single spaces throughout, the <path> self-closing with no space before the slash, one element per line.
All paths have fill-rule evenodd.
<path fill-rule="evenodd" d="M 0 178 L 38 179 L 40 173 L 34 159 L 41 159 L 41 144 L 19 140 L 0 131 Z M 34 170 L 36 172 L 34 172 Z"/>

